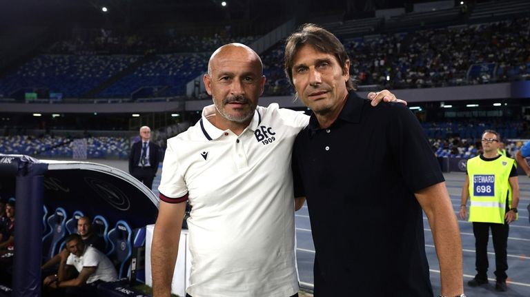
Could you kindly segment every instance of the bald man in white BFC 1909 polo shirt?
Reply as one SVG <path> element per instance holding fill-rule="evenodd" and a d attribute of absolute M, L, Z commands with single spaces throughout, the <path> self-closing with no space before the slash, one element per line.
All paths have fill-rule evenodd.
<path fill-rule="evenodd" d="M 168 140 L 151 248 L 155 297 L 170 296 L 187 200 L 188 296 L 297 296 L 291 152 L 308 116 L 257 106 L 262 69 L 246 45 L 216 50 L 204 75 L 215 104 Z M 376 101 L 384 96 L 395 100 L 386 91 Z"/>

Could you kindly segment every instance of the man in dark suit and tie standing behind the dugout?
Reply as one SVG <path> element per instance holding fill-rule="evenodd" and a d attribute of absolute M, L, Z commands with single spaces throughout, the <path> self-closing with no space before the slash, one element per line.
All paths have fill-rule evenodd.
<path fill-rule="evenodd" d="M 130 148 L 129 173 L 151 189 L 160 163 L 160 147 L 150 141 L 151 129 L 148 126 L 140 128 L 140 137 L 141 141 Z"/>

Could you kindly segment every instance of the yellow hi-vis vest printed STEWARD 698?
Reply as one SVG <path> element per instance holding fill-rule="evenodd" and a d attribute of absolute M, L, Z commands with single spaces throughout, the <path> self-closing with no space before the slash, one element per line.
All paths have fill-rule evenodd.
<path fill-rule="evenodd" d="M 494 161 L 483 161 L 480 156 L 467 161 L 470 222 L 504 224 L 506 203 L 511 205 L 509 178 L 512 167 L 513 158 L 503 155 Z"/>

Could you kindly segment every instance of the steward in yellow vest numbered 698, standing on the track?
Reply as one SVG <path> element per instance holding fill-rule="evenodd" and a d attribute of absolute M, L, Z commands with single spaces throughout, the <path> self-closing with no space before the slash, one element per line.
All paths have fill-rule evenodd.
<path fill-rule="evenodd" d="M 517 219 L 519 184 L 516 164 L 513 158 L 499 154 L 500 135 L 493 130 L 482 134 L 484 153 L 467 161 L 467 175 L 462 187 L 460 218 L 467 216 L 473 222 L 475 235 L 475 265 L 477 274 L 467 283 L 477 287 L 488 283 L 488 240 L 489 229 L 495 249 L 496 291 L 506 291 L 508 269 L 507 246 L 509 224 Z"/>

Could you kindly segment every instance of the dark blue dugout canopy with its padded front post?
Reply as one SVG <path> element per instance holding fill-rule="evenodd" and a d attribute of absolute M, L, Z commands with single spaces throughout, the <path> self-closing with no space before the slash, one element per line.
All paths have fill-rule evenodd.
<path fill-rule="evenodd" d="M 133 176 L 81 161 L 0 154 L 0 195 L 16 197 L 18 218 L 12 287 L 0 285 L 0 296 L 41 296 L 43 205 L 63 207 L 68 215 L 83 209 L 111 225 L 126 220 L 133 229 L 155 223 L 158 212 L 158 198 Z"/>

